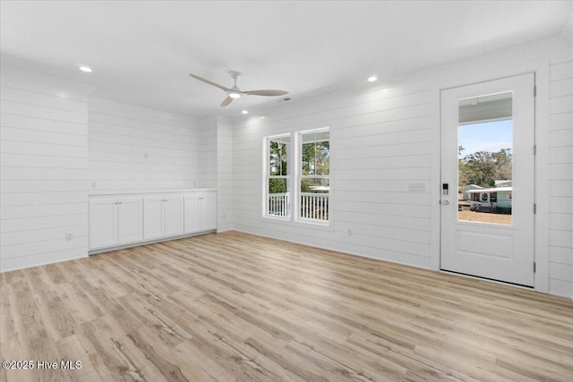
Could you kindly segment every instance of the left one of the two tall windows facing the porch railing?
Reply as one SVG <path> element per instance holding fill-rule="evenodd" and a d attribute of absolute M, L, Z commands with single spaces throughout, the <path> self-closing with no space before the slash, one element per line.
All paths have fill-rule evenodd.
<path fill-rule="evenodd" d="M 266 146 L 266 215 L 290 217 L 290 135 L 270 137 Z"/>

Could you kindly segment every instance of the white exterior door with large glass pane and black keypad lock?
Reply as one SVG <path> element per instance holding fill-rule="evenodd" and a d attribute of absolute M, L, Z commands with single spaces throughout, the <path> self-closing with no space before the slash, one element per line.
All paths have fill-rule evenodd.
<path fill-rule="evenodd" d="M 534 285 L 534 87 L 532 73 L 442 90 L 441 269 Z"/>

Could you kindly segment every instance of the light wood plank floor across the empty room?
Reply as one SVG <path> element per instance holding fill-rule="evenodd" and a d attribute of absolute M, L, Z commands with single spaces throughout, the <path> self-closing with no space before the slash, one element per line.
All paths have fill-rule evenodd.
<path fill-rule="evenodd" d="M 210 234 L 1 276 L 25 380 L 573 380 L 573 301 Z"/>

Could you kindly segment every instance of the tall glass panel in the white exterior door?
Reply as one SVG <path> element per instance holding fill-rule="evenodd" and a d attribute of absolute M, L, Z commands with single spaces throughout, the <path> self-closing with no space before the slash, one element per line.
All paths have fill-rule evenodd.
<path fill-rule="evenodd" d="M 458 221 L 511 225 L 513 92 L 458 103 Z"/>

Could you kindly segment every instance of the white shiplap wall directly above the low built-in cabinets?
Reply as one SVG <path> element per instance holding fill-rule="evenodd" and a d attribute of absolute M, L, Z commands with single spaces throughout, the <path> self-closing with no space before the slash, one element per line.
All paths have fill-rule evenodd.
<path fill-rule="evenodd" d="M 90 98 L 90 191 L 199 186 L 199 121 Z"/>

